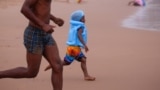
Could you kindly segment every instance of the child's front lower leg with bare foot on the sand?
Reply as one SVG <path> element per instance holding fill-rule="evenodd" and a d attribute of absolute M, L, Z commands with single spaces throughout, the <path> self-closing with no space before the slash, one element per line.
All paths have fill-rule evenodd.
<path fill-rule="evenodd" d="M 82 58 L 82 59 L 81 59 L 81 68 L 82 68 L 82 71 L 83 71 L 84 79 L 85 79 L 85 80 L 94 81 L 94 80 L 96 79 L 95 77 L 91 77 L 91 76 L 88 74 L 87 65 L 86 65 L 86 59 L 85 59 L 85 58 Z"/>

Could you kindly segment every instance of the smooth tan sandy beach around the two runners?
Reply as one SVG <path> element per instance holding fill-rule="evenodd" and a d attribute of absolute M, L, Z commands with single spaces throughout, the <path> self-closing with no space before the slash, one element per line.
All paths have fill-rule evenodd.
<path fill-rule="evenodd" d="M 84 10 L 90 49 L 86 53 L 88 70 L 96 77 L 96 81 L 84 81 L 80 63 L 75 61 L 64 67 L 63 90 L 160 90 L 160 32 L 122 27 L 122 21 L 138 9 L 127 6 L 128 2 L 53 1 L 52 13 L 65 20 L 53 33 L 62 59 L 70 14 Z M 28 20 L 20 13 L 22 3 L 0 0 L 0 71 L 26 66 L 23 31 Z M 0 79 L 0 90 L 52 90 L 51 71 L 44 71 L 47 65 L 43 58 L 34 79 Z"/>

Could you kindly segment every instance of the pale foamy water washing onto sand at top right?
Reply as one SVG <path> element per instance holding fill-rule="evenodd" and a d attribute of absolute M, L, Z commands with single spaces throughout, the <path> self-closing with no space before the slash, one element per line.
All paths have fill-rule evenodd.
<path fill-rule="evenodd" d="M 160 31 L 160 0 L 146 0 L 146 6 L 138 7 L 138 10 L 122 21 L 126 28 L 138 30 Z"/>

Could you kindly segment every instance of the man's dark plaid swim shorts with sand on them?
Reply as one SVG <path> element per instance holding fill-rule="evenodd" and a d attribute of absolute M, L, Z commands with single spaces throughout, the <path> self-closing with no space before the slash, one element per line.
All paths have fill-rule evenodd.
<path fill-rule="evenodd" d="M 28 52 L 43 54 L 46 45 L 54 45 L 55 41 L 51 34 L 42 29 L 27 26 L 24 31 L 24 45 Z"/>

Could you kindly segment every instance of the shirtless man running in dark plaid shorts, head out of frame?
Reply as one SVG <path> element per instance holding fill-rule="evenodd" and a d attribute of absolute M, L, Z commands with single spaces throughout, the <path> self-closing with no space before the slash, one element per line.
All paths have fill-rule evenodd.
<path fill-rule="evenodd" d="M 24 45 L 26 47 L 27 67 L 17 67 L 0 71 L 0 78 L 34 78 L 37 76 L 42 56 L 52 67 L 51 81 L 53 90 L 62 90 L 63 66 L 55 40 L 52 37 L 55 26 L 50 25 L 52 20 L 58 26 L 64 21 L 53 16 L 51 11 L 52 0 L 25 0 L 21 13 L 29 20 L 24 31 Z"/>

